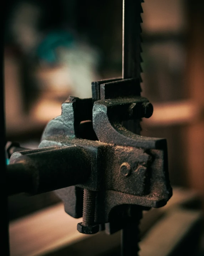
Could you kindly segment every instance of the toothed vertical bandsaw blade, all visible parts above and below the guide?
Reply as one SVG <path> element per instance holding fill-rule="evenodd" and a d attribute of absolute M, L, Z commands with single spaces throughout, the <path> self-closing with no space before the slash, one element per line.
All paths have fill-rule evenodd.
<path fill-rule="evenodd" d="M 141 13 L 143 0 L 123 0 L 123 66 L 122 77 L 141 79 Z M 128 130 L 140 133 L 140 120 L 124 124 Z M 137 256 L 139 251 L 139 221 L 142 209 L 129 217 L 128 223 L 121 230 L 121 256 Z"/>

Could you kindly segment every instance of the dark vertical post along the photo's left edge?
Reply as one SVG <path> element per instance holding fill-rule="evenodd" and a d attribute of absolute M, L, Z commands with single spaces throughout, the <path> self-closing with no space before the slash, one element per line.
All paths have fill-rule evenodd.
<path fill-rule="evenodd" d="M 6 9 L 6 8 L 5 8 Z M 1 25 L 1 35 L 4 36 L 4 8 L 2 8 L 1 15 L 3 22 Z M 1 218 L 0 218 L 0 233 L 1 233 L 1 255 L 9 256 L 9 229 L 8 229 L 8 208 L 7 208 L 7 190 L 6 190 L 6 158 L 5 158 L 5 118 L 4 118 L 4 40 L 1 40 L 1 80 L 0 80 L 0 155 L 1 155 L 1 184 L 0 184 L 0 196 L 1 196 Z"/>

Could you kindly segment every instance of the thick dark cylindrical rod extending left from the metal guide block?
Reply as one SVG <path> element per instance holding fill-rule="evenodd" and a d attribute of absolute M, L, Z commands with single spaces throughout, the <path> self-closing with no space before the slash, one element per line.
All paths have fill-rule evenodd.
<path fill-rule="evenodd" d="M 16 152 L 10 163 L 6 173 L 9 195 L 70 187 L 85 182 L 91 172 L 87 151 L 80 146 Z"/>

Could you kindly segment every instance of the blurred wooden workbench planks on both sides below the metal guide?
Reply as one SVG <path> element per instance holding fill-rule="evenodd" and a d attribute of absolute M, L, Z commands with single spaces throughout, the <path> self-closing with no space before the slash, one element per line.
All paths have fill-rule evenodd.
<path fill-rule="evenodd" d="M 182 241 L 189 241 L 189 238 L 191 242 L 185 247 L 189 252 L 192 246 L 195 250 L 201 233 L 199 204 L 196 193 L 175 188 L 166 206 L 144 212 L 140 255 L 171 256 L 179 246 L 182 252 Z M 112 236 L 104 232 L 94 236 L 83 235 L 76 230 L 80 221 L 68 216 L 63 204 L 58 203 L 10 222 L 11 256 L 117 255 L 120 232 Z"/>

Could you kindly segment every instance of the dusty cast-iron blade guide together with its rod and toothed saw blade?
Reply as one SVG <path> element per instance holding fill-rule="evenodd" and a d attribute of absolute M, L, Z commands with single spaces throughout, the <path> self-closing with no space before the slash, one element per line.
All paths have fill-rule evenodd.
<path fill-rule="evenodd" d="M 12 154 L 7 174 L 10 194 L 56 190 L 69 215 L 83 216 L 79 232 L 123 230 L 122 255 L 136 255 L 142 210 L 164 206 L 172 188 L 166 140 L 139 135 L 153 106 L 141 97 L 141 1 L 126 1 L 123 78 L 93 82 L 92 98 L 69 97 L 39 148 Z M 126 129 L 129 120 L 137 134 Z"/>

